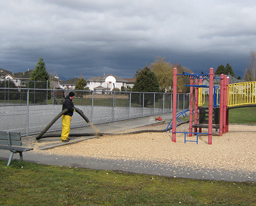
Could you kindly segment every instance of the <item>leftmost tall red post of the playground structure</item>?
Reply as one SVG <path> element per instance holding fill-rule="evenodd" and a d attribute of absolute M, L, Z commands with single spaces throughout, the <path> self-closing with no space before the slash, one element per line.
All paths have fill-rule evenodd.
<path fill-rule="evenodd" d="M 173 98 L 172 98 L 172 141 L 176 142 L 177 113 L 177 68 L 173 68 Z"/>

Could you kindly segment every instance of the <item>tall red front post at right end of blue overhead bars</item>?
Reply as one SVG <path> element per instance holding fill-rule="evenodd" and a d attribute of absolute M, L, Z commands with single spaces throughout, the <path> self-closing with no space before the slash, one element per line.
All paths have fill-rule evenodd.
<path fill-rule="evenodd" d="M 213 137 L 213 80 L 214 69 L 209 72 L 209 114 L 208 114 L 208 145 L 212 144 Z"/>

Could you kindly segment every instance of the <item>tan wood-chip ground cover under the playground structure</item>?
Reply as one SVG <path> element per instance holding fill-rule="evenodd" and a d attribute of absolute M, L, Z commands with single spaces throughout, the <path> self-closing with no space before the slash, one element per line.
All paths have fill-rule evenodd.
<path fill-rule="evenodd" d="M 162 124 L 129 131 L 156 130 L 166 127 L 166 124 Z M 179 126 L 177 131 L 188 131 L 188 124 Z M 185 144 L 184 134 L 177 134 L 176 143 L 173 143 L 172 133 L 146 132 L 105 135 L 50 150 L 35 150 L 36 152 L 56 155 L 160 161 L 163 164 L 172 163 L 209 169 L 255 172 L 256 126 L 230 125 L 229 131 L 223 134 L 223 136 L 218 136 L 218 132 L 214 132 L 212 145 L 207 144 L 207 135 L 200 135 L 198 144 L 195 142 L 187 142 Z M 202 132 L 207 132 L 207 129 L 203 129 Z M 196 136 L 192 136 L 189 139 L 195 140 Z"/>

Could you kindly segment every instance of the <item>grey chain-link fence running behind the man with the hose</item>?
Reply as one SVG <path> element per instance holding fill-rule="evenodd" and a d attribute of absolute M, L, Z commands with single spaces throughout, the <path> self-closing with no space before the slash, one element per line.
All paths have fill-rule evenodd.
<path fill-rule="evenodd" d="M 71 90 L 0 88 L 0 128 L 22 136 L 37 134 L 62 111 Z M 108 123 L 172 112 L 172 93 L 94 92 L 73 90 L 74 106 L 93 124 Z M 177 94 L 177 110 L 188 109 L 189 95 Z M 89 124 L 80 115 L 72 116 L 71 128 Z M 49 129 L 62 129 L 59 118 Z"/>

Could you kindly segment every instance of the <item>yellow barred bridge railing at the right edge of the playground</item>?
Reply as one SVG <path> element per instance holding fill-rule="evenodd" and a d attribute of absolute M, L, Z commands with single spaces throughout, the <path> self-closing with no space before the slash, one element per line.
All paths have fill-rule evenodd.
<path fill-rule="evenodd" d="M 229 84 L 228 107 L 256 104 L 255 87 L 255 81 Z"/>

